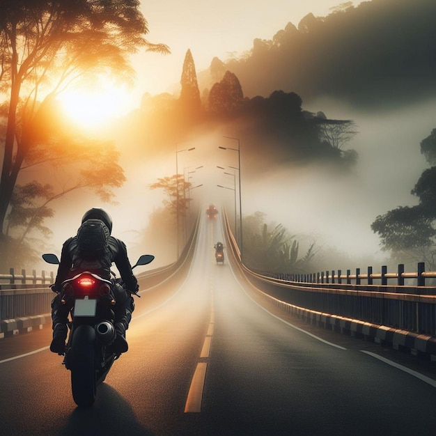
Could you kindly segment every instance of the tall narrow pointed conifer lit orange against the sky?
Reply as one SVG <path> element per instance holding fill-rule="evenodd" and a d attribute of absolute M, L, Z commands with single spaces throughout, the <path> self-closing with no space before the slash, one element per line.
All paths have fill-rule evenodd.
<path fill-rule="evenodd" d="M 191 50 L 188 49 L 183 62 L 182 89 L 180 91 L 180 104 L 187 115 L 196 115 L 201 111 L 200 90 L 198 89 L 197 75 Z"/>

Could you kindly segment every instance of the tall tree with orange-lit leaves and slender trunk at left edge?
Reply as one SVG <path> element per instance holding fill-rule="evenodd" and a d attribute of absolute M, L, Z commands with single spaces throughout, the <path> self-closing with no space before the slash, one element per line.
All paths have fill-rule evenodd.
<path fill-rule="evenodd" d="M 65 133 L 63 121 L 56 117 L 56 95 L 84 75 L 130 79 L 133 70 L 127 55 L 139 47 L 169 52 L 166 45 L 144 38 L 148 24 L 139 6 L 138 0 L 0 0 L 0 91 L 8 96 L 0 114 L 5 120 L 0 179 L 3 242 L 9 228 L 40 226 L 40 219 L 50 213 L 49 198 L 84 186 L 107 198 L 104 185 L 118 186 L 123 181 L 116 159 L 115 171 L 109 173 L 117 157 L 113 147 L 85 142 L 77 132 Z M 18 185 L 26 166 L 42 163 L 57 168 L 75 163 L 80 176 L 57 193 L 35 181 Z M 45 205 L 32 206 L 33 212 L 28 210 L 20 219 L 24 205 L 38 197 L 44 198 Z M 13 221 L 8 222 L 12 210 Z"/>

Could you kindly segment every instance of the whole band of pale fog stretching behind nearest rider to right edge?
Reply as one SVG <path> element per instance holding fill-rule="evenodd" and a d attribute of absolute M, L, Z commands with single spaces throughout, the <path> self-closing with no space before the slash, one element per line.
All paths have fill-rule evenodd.
<path fill-rule="evenodd" d="M 367 113 L 331 100 L 304 104 L 305 110 L 322 110 L 329 118 L 355 120 L 359 134 L 345 148 L 357 150 L 359 159 L 348 173 L 321 164 L 289 164 L 270 167 L 259 177 L 248 178 L 250 171 L 244 157 L 249 153 L 249 144 L 241 137 L 242 215 L 264 212 L 267 223 L 285 226 L 291 234 L 297 235 L 301 255 L 305 246 L 314 241 L 321 249 L 321 257 L 331 258 L 333 249 L 348 256 L 350 262 L 371 258 L 374 267 L 381 265 L 387 254 L 380 251 L 371 223 L 377 215 L 399 205 L 417 203 L 410 191 L 428 166 L 419 145 L 435 127 L 434 107 L 435 102 L 431 101 L 398 111 Z M 238 148 L 236 142 L 223 137 L 231 135 L 232 132 L 223 127 L 175 145 L 172 155 L 153 159 L 134 159 L 125 145 L 118 144 L 120 164 L 127 181 L 120 189 L 114 189 L 116 204 L 104 204 L 95 194 L 83 190 L 61 198 L 54 205 L 55 217 L 47 222 L 53 235 L 47 240 L 45 251 L 59 255 L 61 244 L 75 234 L 84 212 L 100 206 L 113 217 L 113 235 L 125 241 L 132 263 L 140 254 L 166 253 L 141 270 L 173 262 L 176 259 L 174 240 L 161 238 L 143 242 L 143 231 L 148 226 L 150 214 L 162 208 L 166 198 L 162 189 L 152 190 L 150 185 L 158 178 L 176 173 L 178 150 L 178 173 L 185 173 L 186 178 L 189 176 L 194 188 L 189 192 L 193 199 L 192 210 L 197 206 L 204 210 L 209 203 L 218 208 L 226 205 L 233 224 L 235 200 L 239 209 L 239 188 L 238 170 L 230 167 L 238 167 L 238 153 L 218 148 Z M 193 147 L 195 150 L 186 151 Z M 224 172 L 234 173 L 234 176 Z M 366 266 L 337 265 L 332 259 L 330 268 Z M 42 262 L 33 267 L 52 270 Z"/>

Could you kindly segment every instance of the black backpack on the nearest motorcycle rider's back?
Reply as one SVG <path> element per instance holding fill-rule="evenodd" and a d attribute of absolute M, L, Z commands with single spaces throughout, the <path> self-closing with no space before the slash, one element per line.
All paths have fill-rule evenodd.
<path fill-rule="evenodd" d="M 87 219 L 77 230 L 77 254 L 101 258 L 109 252 L 109 228 L 100 219 Z"/>

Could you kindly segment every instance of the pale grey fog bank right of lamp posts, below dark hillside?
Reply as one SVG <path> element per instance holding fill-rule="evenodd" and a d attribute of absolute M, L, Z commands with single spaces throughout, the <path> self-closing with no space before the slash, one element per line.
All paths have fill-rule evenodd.
<path fill-rule="evenodd" d="M 318 247 L 381 261 L 386 254 L 371 223 L 399 205 L 417 203 L 410 191 L 428 166 L 419 145 L 435 127 L 435 102 L 371 114 L 329 100 L 305 107 L 321 108 L 329 118 L 357 123 L 359 134 L 346 146 L 359 153 L 355 168 L 348 174 L 320 165 L 279 169 L 243 185 L 243 212 L 263 210 L 292 233 L 313 238 Z"/>

